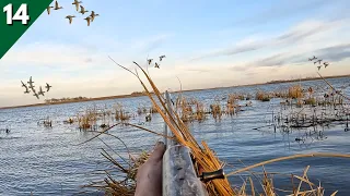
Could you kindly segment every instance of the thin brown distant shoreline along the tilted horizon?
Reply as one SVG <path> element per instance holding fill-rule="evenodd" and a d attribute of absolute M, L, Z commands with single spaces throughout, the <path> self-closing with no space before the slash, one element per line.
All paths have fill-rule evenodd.
<path fill-rule="evenodd" d="M 340 77 L 350 77 L 350 75 L 347 74 L 347 75 L 324 76 L 324 78 L 340 78 Z M 214 88 L 202 88 L 202 89 L 188 89 L 188 90 L 183 90 L 183 91 L 200 91 L 200 90 L 208 90 L 208 89 L 221 89 L 221 88 L 232 88 L 232 87 L 243 87 L 243 86 L 258 86 L 258 85 L 317 81 L 317 79 L 322 79 L 322 78 L 320 77 L 305 77 L 305 78 L 298 78 L 298 79 L 279 79 L 279 81 L 270 81 L 270 82 L 266 82 L 266 83 L 246 84 L 246 85 L 226 86 L 226 87 L 214 87 Z M 175 91 L 175 93 L 178 93 L 178 91 Z M 39 107 L 39 106 L 48 106 L 48 105 L 86 102 L 86 101 L 96 101 L 96 100 L 121 99 L 121 98 L 132 98 L 132 97 L 143 97 L 143 96 L 145 96 L 145 95 L 142 95 L 142 94 L 131 95 L 131 94 L 129 94 L 129 95 L 118 95 L 118 96 L 107 96 L 107 97 L 95 97 L 95 98 L 89 98 L 89 99 L 84 99 L 84 100 L 69 100 L 69 101 L 51 102 L 51 103 L 43 102 L 43 103 L 34 103 L 34 105 L 0 107 L 0 110 L 14 109 L 14 108 L 26 108 L 26 107 Z"/>

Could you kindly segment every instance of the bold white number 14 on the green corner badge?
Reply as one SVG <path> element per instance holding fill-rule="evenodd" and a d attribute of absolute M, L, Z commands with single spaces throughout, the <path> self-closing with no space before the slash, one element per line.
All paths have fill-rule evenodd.
<path fill-rule="evenodd" d="M 23 3 L 13 15 L 13 5 L 10 3 L 3 8 L 7 13 L 7 24 L 12 25 L 13 21 L 22 21 L 22 24 L 27 25 L 30 21 L 27 4 Z M 13 15 L 13 16 L 12 16 Z"/>

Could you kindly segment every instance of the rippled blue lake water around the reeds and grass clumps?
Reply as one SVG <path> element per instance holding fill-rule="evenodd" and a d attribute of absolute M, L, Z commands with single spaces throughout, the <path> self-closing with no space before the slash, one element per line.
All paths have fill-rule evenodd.
<path fill-rule="evenodd" d="M 350 78 L 329 79 L 332 85 L 349 86 Z M 303 85 L 323 86 L 323 81 L 303 82 Z M 290 86 L 272 84 L 249 87 L 210 89 L 185 93 L 186 96 L 196 97 L 203 102 L 213 102 L 215 95 L 222 96 L 230 93 L 252 93 L 257 89 L 276 90 Z M 350 95 L 350 88 L 343 89 Z M 94 139 L 77 146 L 91 138 L 93 133 L 80 132 L 74 125 L 63 124 L 63 120 L 73 117 L 93 105 L 112 108 L 116 102 L 130 112 L 135 112 L 139 105 L 150 106 L 147 97 L 104 100 L 93 102 L 67 103 L 47 107 L 33 107 L 0 110 L 0 128 L 10 127 L 11 132 L 0 132 L 0 195 L 73 195 L 83 189 L 80 185 L 92 181 L 103 180 L 104 174 L 97 171 L 107 169 L 110 164 L 102 157 L 101 148 L 107 148 L 101 140 Z M 215 122 L 211 117 L 201 123 L 194 122 L 189 125 L 195 137 L 206 140 L 218 152 L 221 160 L 230 166 L 225 172 L 233 171 L 231 166 L 242 168 L 264 160 L 306 152 L 341 152 L 350 149 L 350 132 L 345 132 L 345 125 L 330 126 L 325 130 L 325 139 L 295 142 L 302 133 L 294 131 L 291 134 L 275 133 L 272 127 L 254 130 L 266 125 L 269 111 L 277 107 L 279 100 L 260 102 L 253 100 L 253 107 L 244 108 L 245 111 L 237 117 L 224 117 L 221 122 Z M 278 107 L 277 107 L 278 108 Z M 52 128 L 37 125 L 37 121 L 50 117 Z M 136 117 L 133 123 L 143 122 L 144 117 Z M 145 127 L 163 132 L 164 122 L 159 114 L 153 114 L 152 122 L 147 122 Z M 129 126 L 116 127 L 109 133 L 120 137 L 132 152 L 151 149 L 159 136 L 132 128 Z M 126 155 L 122 144 L 108 136 L 101 137 L 114 150 Z M 240 162 L 238 159 L 243 162 Z M 269 172 L 294 173 L 302 175 L 306 166 L 311 166 L 308 176 L 311 181 L 326 188 L 326 193 L 339 189 L 338 195 L 350 195 L 349 166 L 350 160 L 337 158 L 304 158 L 268 164 L 265 169 Z M 261 168 L 254 171 L 261 172 Z M 230 177 L 233 185 L 242 185 L 241 176 Z M 291 189 L 290 176 L 276 175 L 275 185 L 280 188 Z M 96 195 L 96 194 L 95 194 Z"/>

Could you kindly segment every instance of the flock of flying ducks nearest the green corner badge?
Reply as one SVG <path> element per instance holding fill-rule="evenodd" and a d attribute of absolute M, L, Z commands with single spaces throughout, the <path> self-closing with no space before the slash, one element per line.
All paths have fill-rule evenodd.
<path fill-rule="evenodd" d="M 82 1 L 78 1 L 74 0 L 74 2 L 72 2 L 73 5 L 75 5 L 75 10 L 78 13 L 81 13 L 82 15 L 84 15 L 85 13 L 90 12 L 89 10 L 85 10 L 85 8 L 83 5 L 81 5 Z M 60 7 L 58 4 L 57 1 L 55 1 L 55 7 L 47 7 L 47 13 L 50 14 L 51 9 L 54 10 L 60 10 L 63 9 L 62 7 Z M 91 11 L 91 14 L 85 17 L 84 20 L 88 22 L 88 26 L 90 26 L 91 22 L 94 22 L 95 17 L 100 16 L 100 14 L 96 14 L 94 11 Z M 67 15 L 66 19 L 69 20 L 69 24 L 72 24 L 73 22 L 73 17 L 77 17 L 75 15 Z"/>

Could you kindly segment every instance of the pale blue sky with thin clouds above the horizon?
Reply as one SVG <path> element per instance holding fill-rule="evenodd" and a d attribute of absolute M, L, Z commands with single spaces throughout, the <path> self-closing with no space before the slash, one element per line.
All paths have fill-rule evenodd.
<path fill-rule="evenodd" d="M 161 90 L 179 89 L 177 78 L 197 89 L 316 76 L 313 56 L 330 63 L 322 75 L 350 74 L 348 0 L 82 1 L 100 14 L 91 26 L 60 0 L 0 60 L 0 107 L 141 91 L 108 56 L 133 70 L 165 54 L 149 68 Z M 23 94 L 30 76 L 52 85 L 45 98 Z"/>

